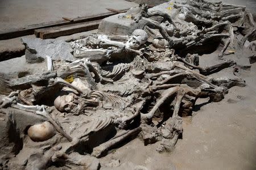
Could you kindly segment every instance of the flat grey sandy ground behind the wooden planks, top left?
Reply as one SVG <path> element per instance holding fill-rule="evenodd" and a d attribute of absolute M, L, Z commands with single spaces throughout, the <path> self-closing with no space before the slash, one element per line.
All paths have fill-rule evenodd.
<path fill-rule="evenodd" d="M 10 28 L 25 27 L 62 17 L 77 18 L 108 12 L 106 8 L 122 10 L 137 6 L 124 0 L 1 0 L 0 31 Z"/>

